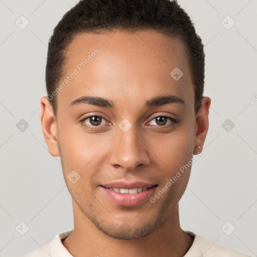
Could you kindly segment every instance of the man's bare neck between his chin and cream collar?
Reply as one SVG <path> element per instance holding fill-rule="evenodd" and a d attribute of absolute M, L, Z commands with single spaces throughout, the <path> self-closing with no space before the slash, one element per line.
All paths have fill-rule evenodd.
<path fill-rule="evenodd" d="M 119 240 L 105 235 L 79 209 L 73 200 L 74 229 L 62 243 L 73 256 L 177 257 L 193 243 L 179 222 L 178 205 L 156 231 L 140 239 Z"/>

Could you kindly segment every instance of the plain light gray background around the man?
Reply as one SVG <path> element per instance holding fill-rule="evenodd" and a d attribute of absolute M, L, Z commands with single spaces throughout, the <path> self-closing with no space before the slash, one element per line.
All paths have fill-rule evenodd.
<path fill-rule="evenodd" d="M 0 1 L 0 256 L 21 256 L 73 228 L 71 196 L 60 159 L 47 151 L 39 108 L 48 40 L 77 2 Z M 212 100 L 203 155 L 180 201 L 181 226 L 256 256 L 257 1 L 179 4 L 205 45 L 204 95 Z M 21 16 L 30 23 L 23 30 L 16 25 Z M 230 29 L 222 25 L 227 16 L 235 21 Z M 232 20 L 224 23 L 230 27 Z M 16 126 L 21 119 L 29 125 L 23 132 Z M 22 221 L 29 226 L 25 235 L 16 230 Z"/>

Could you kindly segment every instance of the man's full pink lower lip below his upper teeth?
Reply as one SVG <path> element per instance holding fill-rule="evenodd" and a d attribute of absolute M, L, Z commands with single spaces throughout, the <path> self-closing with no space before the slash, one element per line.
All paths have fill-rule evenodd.
<path fill-rule="evenodd" d="M 122 206 L 135 206 L 149 200 L 151 195 L 153 194 L 156 186 L 148 188 L 145 191 L 141 191 L 136 194 L 122 194 L 116 192 L 114 190 L 108 189 L 106 187 L 101 186 L 101 189 L 105 192 L 107 197 L 115 204 Z"/>

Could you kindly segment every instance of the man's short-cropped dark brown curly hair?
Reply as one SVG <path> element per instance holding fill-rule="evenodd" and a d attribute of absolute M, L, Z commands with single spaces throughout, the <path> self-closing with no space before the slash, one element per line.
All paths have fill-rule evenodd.
<path fill-rule="evenodd" d="M 55 116 L 58 83 L 65 74 L 65 54 L 74 36 L 120 29 L 156 30 L 185 44 L 195 91 L 195 114 L 204 89 L 205 55 L 201 38 L 176 0 L 81 0 L 59 21 L 48 44 L 46 89 Z M 49 97 L 50 96 L 50 97 Z"/>

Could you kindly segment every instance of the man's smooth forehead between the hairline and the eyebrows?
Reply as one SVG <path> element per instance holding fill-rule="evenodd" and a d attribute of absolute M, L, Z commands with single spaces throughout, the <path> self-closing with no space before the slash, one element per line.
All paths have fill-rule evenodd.
<path fill-rule="evenodd" d="M 67 48 L 66 58 L 65 77 L 76 73 L 58 94 L 67 104 L 82 95 L 109 95 L 124 102 L 150 99 L 158 92 L 193 100 L 188 57 L 179 38 L 153 30 L 80 33 Z M 170 73 L 177 68 L 183 76 L 176 81 Z"/>

